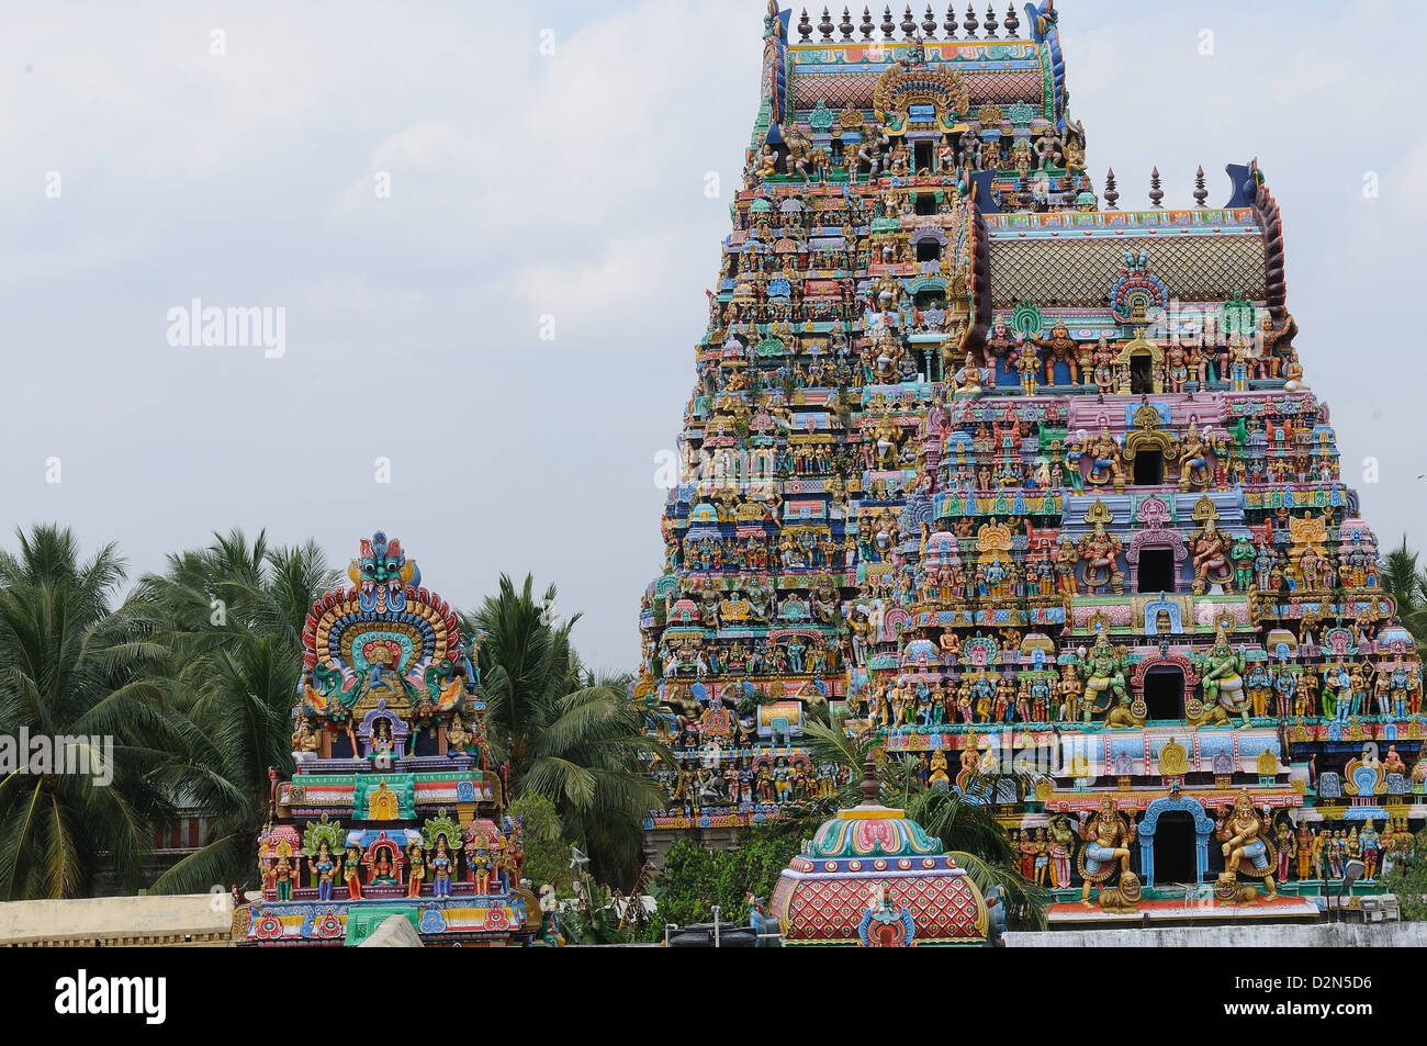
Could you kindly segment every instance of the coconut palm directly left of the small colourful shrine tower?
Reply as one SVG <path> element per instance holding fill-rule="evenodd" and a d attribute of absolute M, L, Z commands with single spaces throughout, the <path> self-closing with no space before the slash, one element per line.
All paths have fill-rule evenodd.
<path fill-rule="evenodd" d="M 251 878 L 268 816 L 268 768 L 293 769 L 291 711 L 303 668 L 303 622 L 337 584 L 323 551 L 274 548 L 264 534 L 214 535 L 146 577 L 136 606 L 158 622 L 168 654 L 167 701 L 188 723 L 184 751 L 150 779 L 208 819 L 208 842 L 153 889 L 191 892 Z"/>

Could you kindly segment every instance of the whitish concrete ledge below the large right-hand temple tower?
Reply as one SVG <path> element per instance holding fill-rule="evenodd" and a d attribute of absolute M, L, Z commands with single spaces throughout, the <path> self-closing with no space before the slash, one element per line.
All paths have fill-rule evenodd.
<path fill-rule="evenodd" d="M 1006 933 L 1007 948 L 1427 948 L 1427 922 L 1164 926 Z"/>

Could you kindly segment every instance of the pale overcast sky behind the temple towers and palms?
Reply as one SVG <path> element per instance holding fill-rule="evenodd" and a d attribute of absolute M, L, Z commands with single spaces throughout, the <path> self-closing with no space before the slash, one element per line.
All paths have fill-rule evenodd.
<path fill-rule="evenodd" d="M 1059 9 L 1122 208 L 1154 164 L 1166 203 L 1202 163 L 1222 204 L 1260 158 L 1343 475 L 1384 544 L 1427 545 L 1423 6 Z M 0 542 L 59 521 L 137 577 L 215 529 L 344 567 L 384 528 L 461 606 L 557 582 L 586 658 L 632 668 L 763 11 L 4 4 Z M 194 298 L 285 310 L 285 351 L 171 345 Z"/>

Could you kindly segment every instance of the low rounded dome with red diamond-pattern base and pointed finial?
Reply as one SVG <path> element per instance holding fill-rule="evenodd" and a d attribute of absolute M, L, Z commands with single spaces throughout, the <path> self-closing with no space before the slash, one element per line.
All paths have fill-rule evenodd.
<path fill-rule="evenodd" d="M 863 801 L 839 811 L 778 878 L 772 910 L 786 945 L 980 945 L 986 902 L 942 845 L 878 802 L 869 759 Z"/>

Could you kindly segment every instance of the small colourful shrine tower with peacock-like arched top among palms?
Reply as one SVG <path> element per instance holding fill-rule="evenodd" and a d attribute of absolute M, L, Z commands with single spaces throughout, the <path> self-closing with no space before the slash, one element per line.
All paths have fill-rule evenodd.
<path fill-rule="evenodd" d="M 541 909 L 488 769 L 475 642 L 395 538 L 362 541 L 348 574 L 303 629 L 295 772 L 270 771 L 261 899 L 234 936 L 358 945 L 400 916 L 427 945 L 528 943 Z"/>

